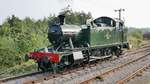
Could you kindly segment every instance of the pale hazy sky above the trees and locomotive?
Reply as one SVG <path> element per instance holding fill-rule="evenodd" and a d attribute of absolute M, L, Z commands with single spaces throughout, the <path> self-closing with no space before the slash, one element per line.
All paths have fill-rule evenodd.
<path fill-rule="evenodd" d="M 0 24 L 12 14 L 35 20 L 56 14 L 67 5 L 74 11 L 100 16 L 118 17 L 115 9 L 123 8 L 122 18 L 128 27 L 150 27 L 150 0 L 0 0 Z"/>

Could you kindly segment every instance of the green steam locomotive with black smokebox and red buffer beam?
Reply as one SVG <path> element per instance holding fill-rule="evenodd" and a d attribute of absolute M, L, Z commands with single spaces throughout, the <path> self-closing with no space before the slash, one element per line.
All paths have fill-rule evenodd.
<path fill-rule="evenodd" d="M 65 24 L 65 14 L 59 23 L 49 25 L 48 39 L 53 45 L 43 51 L 31 52 L 38 67 L 45 71 L 53 67 L 70 67 L 108 57 L 119 56 L 128 48 L 124 21 L 110 17 L 87 20 L 85 25 Z"/>

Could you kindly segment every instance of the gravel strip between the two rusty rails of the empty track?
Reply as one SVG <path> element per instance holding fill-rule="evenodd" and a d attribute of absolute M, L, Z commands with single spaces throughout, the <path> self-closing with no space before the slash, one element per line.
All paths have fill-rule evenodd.
<path fill-rule="evenodd" d="M 143 67 L 146 64 L 149 64 L 150 63 L 149 61 L 150 61 L 150 55 L 143 58 L 142 60 L 139 60 L 138 62 L 134 62 L 126 67 L 123 67 L 115 74 L 109 75 L 108 77 L 104 78 L 104 81 L 96 80 L 93 81 L 92 84 L 115 84 L 118 80 L 123 79 L 133 71 Z"/>

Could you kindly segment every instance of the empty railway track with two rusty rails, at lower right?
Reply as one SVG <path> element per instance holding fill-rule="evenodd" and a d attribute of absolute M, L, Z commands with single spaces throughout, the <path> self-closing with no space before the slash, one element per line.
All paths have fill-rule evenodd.
<path fill-rule="evenodd" d="M 146 53 L 142 57 L 135 60 L 121 64 L 115 68 L 108 71 L 100 73 L 92 78 L 82 81 L 81 84 L 124 84 L 137 76 L 137 74 L 142 73 L 143 70 L 150 67 L 150 53 Z M 144 66 L 144 67 L 143 67 Z M 128 69 L 128 70 L 127 70 Z M 123 78 L 122 78 L 123 77 Z M 96 78 L 101 78 L 103 81 L 94 81 Z"/>

